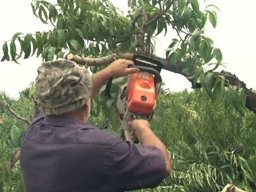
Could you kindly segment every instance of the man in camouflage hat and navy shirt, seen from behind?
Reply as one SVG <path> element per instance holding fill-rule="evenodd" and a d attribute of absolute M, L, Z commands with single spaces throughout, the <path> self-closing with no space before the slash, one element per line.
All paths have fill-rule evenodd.
<path fill-rule="evenodd" d="M 130 122 L 140 145 L 87 123 L 90 100 L 110 77 L 139 72 L 116 60 L 94 74 L 73 61 L 38 67 L 36 93 L 45 116 L 30 124 L 21 145 L 27 191 L 124 191 L 157 186 L 170 174 L 163 143 L 146 120 Z"/>

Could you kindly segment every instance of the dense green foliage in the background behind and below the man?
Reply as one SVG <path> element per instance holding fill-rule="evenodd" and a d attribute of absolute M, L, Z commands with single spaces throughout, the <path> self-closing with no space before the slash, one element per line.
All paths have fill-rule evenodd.
<path fill-rule="evenodd" d="M 33 103 L 26 98 L 8 101 L 23 116 L 33 113 Z M 8 161 L 27 125 L 2 110 L 0 186 L 5 191 L 24 191 L 20 165 L 10 172 Z M 94 111 L 90 122 L 102 128 L 108 118 L 108 129 L 119 134 L 119 118 L 111 111 L 111 115 L 105 107 L 98 114 Z M 169 149 L 173 171 L 159 187 L 141 191 L 218 191 L 229 182 L 255 190 L 256 116 L 252 112 L 244 109 L 241 116 L 234 107 L 209 100 L 204 91 L 162 93 L 151 127 Z"/>

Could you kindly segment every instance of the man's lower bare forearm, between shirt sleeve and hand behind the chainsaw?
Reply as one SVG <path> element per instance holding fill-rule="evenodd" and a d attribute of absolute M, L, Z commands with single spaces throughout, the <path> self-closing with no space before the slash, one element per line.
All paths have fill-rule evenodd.
<path fill-rule="evenodd" d="M 161 149 L 162 153 L 164 154 L 164 158 L 165 158 L 166 176 L 170 175 L 171 163 L 170 163 L 169 155 L 167 153 L 167 149 L 164 146 L 163 142 L 156 137 L 154 132 L 151 131 L 150 129 L 147 129 L 147 130 L 145 130 L 145 132 L 143 132 L 141 134 L 141 137 L 138 138 L 138 140 L 140 141 L 140 144 L 142 144 L 142 145 L 153 145 L 153 146 L 156 146 L 159 149 Z"/>

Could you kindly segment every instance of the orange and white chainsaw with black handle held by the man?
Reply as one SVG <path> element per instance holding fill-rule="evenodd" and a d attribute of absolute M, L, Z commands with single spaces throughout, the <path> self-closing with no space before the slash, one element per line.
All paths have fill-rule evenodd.
<path fill-rule="evenodd" d="M 133 119 L 143 118 L 150 121 L 156 107 L 156 96 L 161 90 L 162 78 L 160 75 L 163 63 L 146 55 L 134 54 L 132 61 L 139 73 L 129 76 L 128 81 L 120 87 L 116 107 L 121 119 L 121 138 L 137 142 L 134 132 L 128 125 Z M 110 91 L 112 79 L 106 85 Z"/>

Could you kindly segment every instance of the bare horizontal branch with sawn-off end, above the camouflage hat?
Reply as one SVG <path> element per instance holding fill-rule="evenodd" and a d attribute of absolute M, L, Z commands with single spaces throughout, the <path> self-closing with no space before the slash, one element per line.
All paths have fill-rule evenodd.
<path fill-rule="evenodd" d="M 98 65 L 107 65 L 116 59 L 128 59 L 132 60 L 132 53 L 113 53 L 101 58 L 84 58 L 78 57 L 77 55 L 69 54 L 68 60 L 75 61 L 79 65 L 85 66 L 98 66 Z"/>

